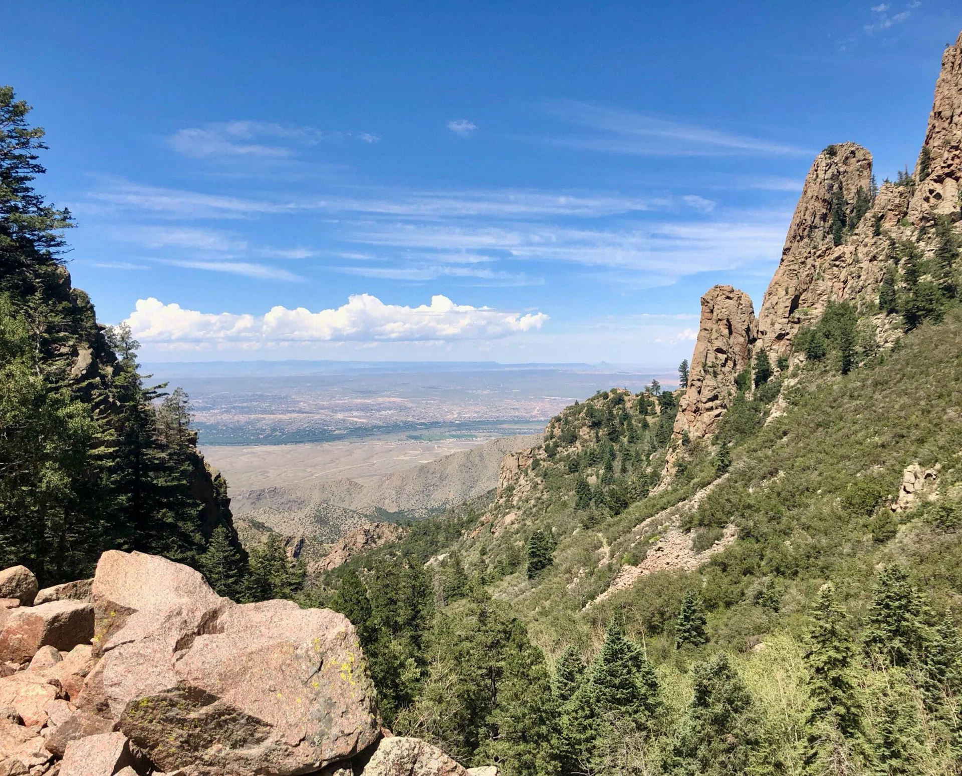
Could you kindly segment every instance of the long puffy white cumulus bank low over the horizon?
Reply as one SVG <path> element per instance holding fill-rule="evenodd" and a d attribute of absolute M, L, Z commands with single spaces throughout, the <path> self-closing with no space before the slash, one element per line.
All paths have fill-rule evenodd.
<path fill-rule="evenodd" d="M 430 305 L 386 305 L 370 294 L 337 309 L 312 313 L 277 306 L 265 315 L 200 313 L 150 297 L 139 299 L 127 323 L 142 342 L 414 342 L 494 339 L 540 329 L 544 313 L 513 313 L 456 305 L 441 294 Z"/>

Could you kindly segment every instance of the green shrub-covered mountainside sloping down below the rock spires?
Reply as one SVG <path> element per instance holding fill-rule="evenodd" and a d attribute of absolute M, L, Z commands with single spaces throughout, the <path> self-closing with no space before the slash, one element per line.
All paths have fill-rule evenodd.
<path fill-rule="evenodd" d="M 563 771 L 958 772 L 962 649 L 950 623 L 962 607 L 962 310 L 952 307 L 943 322 L 920 326 L 888 351 L 862 347 L 848 374 L 826 339 L 824 358 L 794 358 L 781 382 L 740 396 L 711 444 L 685 447 L 669 488 L 648 493 L 663 469 L 660 430 L 670 427 L 671 394 L 658 400 L 614 389 L 552 420 L 532 453 L 539 463 L 487 505 L 427 521 L 332 575 L 333 589 L 356 571 L 369 581 L 389 561 L 412 569 L 429 562 L 418 573 L 434 581 L 432 608 L 421 651 L 411 653 L 421 667 L 409 674 L 395 727 L 466 757 L 490 757 L 483 744 L 425 721 L 460 703 L 457 692 L 440 700 L 441 688 L 451 671 L 469 674 L 471 663 L 459 659 L 444 673 L 439 661 L 454 649 L 451 628 L 463 641 L 463 623 L 476 625 L 476 608 L 487 606 L 524 624 L 545 670 L 556 672 L 556 693 L 572 655 L 592 664 L 583 687 L 600 682 L 604 656 L 620 638 L 613 623 L 655 668 L 657 713 L 593 734 L 590 751 L 579 750 L 570 731 L 578 729 L 577 708 L 594 707 L 556 695 L 561 722 L 552 740 Z M 937 497 L 894 510 L 913 464 L 935 470 L 928 494 Z M 726 527 L 734 540 L 706 553 Z M 642 574 L 592 603 L 625 567 L 645 567 L 669 532 L 695 547 L 689 570 Z M 530 573 L 536 535 L 550 538 L 550 564 Z M 679 618 L 686 592 L 687 619 Z M 371 589 L 375 609 L 378 594 Z M 838 664 L 819 662 L 836 653 L 844 657 Z M 824 689 L 836 685 L 847 688 L 853 726 L 839 693 Z M 698 716 L 698 698 L 723 706 L 722 696 L 744 703 L 713 728 Z M 696 722 L 698 740 L 737 740 L 728 765 L 706 764 L 723 759 L 722 738 L 704 751 L 685 738 Z M 566 764 L 572 751 L 582 760 Z M 503 764 L 513 772 L 547 772 L 512 762 Z M 692 763 L 702 770 L 686 770 Z"/>

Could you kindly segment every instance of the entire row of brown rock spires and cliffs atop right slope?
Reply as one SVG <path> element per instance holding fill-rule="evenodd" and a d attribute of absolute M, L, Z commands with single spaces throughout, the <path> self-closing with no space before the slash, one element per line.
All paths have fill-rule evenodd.
<path fill-rule="evenodd" d="M 943 56 L 914 178 L 886 182 L 876 192 L 869 151 L 851 142 L 828 146 L 805 178 L 757 326 L 749 321 L 751 302 L 741 291 L 716 287 L 702 298 L 675 441 L 685 432 L 691 438 L 711 436 L 735 395 L 738 372 L 762 349 L 772 364 L 788 356 L 798 329 L 817 322 L 829 303 L 873 311 L 894 245 L 909 240 L 930 257 L 936 217 L 959 221 L 960 181 L 962 35 Z M 882 339 L 891 341 L 888 335 Z"/>

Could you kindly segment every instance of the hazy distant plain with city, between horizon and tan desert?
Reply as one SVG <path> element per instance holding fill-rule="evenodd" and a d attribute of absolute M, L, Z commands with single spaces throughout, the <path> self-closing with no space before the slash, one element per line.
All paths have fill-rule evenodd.
<path fill-rule="evenodd" d="M 671 369 L 610 364 L 288 361 L 143 368 L 152 382 L 189 393 L 206 445 L 528 434 L 597 390 L 677 382 Z"/>

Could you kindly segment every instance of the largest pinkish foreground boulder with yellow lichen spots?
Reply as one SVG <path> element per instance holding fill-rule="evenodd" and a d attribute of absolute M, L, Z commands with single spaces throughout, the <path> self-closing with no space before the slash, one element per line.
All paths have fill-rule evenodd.
<path fill-rule="evenodd" d="M 342 614 L 238 605 L 190 568 L 139 553 L 105 553 L 93 594 L 103 658 L 78 705 L 116 720 L 162 770 L 310 773 L 380 735 Z"/>

